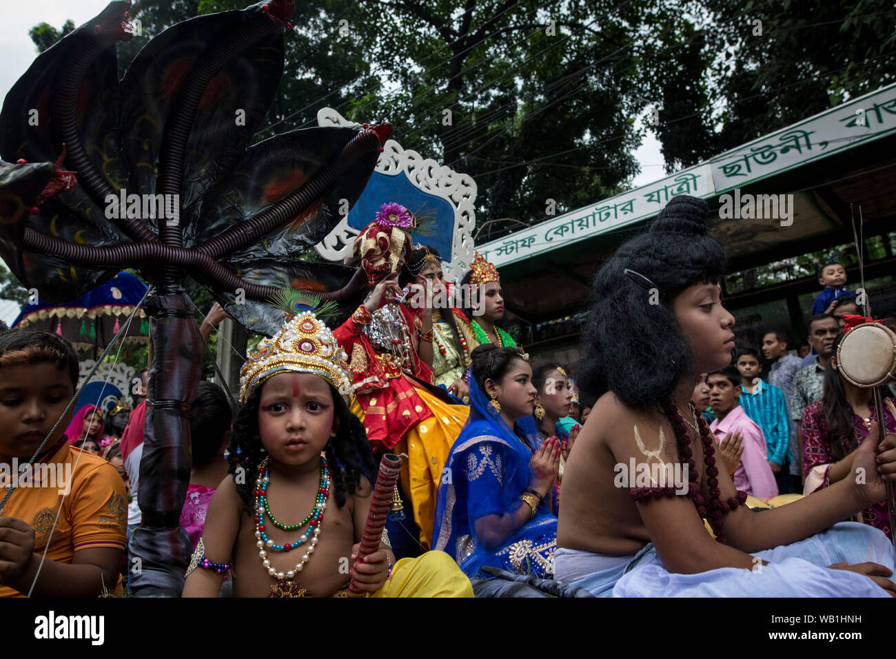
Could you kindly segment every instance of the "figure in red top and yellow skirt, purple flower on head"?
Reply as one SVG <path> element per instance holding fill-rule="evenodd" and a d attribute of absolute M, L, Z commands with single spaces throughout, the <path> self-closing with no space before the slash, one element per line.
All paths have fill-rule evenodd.
<path fill-rule="evenodd" d="M 431 546 L 435 490 L 452 442 L 467 420 L 464 405 L 434 394 L 432 309 L 413 308 L 399 296 L 396 278 L 411 251 L 413 213 L 399 204 L 383 204 L 376 219 L 356 238 L 354 251 L 373 287 L 364 304 L 333 335 L 349 354 L 356 401 L 354 412 L 380 455 L 406 453 L 393 510 L 409 499 L 419 542 L 400 553 L 416 554 Z M 425 299 L 418 284 L 409 284 L 414 299 Z M 432 390 L 431 390 L 432 389 Z M 447 398 L 447 396 L 446 396 Z M 390 520 L 387 528 L 395 528 Z M 401 538 L 406 533 L 401 531 Z M 396 533 L 397 535 L 397 533 Z M 398 545 L 396 545 L 398 548 Z"/>

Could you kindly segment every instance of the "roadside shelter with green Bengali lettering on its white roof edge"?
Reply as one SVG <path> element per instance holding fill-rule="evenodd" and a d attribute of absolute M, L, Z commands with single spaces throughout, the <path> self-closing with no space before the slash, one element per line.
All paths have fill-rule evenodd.
<path fill-rule="evenodd" d="M 850 204 L 856 213 L 861 207 L 866 248 L 874 247 L 866 254 L 874 315 L 896 311 L 894 83 L 649 185 L 478 246 L 499 268 L 508 320 L 523 326 L 527 350 L 577 360 L 575 315 L 581 319 L 590 304 L 591 277 L 679 194 L 702 197 L 711 212 L 721 211 L 710 232 L 725 248 L 728 272 L 738 273 L 726 277 L 722 292 L 737 317 L 739 343 L 757 343 L 762 327 L 805 336 L 812 300 L 821 292 L 814 272 L 760 285 L 754 268 L 851 243 Z M 749 195 L 776 195 L 775 201 L 792 195 L 783 200 L 792 205 L 776 213 L 770 198 L 760 199 L 751 213 L 742 208 Z M 782 208 L 792 211 L 789 219 Z M 857 267 L 848 266 L 847 273 L 847 288 L 856 290 Z"/>

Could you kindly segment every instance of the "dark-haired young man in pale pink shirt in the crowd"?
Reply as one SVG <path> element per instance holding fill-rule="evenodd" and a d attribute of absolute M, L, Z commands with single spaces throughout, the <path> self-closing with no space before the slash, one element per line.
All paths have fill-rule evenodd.
<path fill-rule="evenodd" d="M 710 386 L 710 407 L 716 419 L 710 424 L 712 434 L 721 441 L 729 432 L 740 432 L 744 438 L 744 455 L 734 473 L 734 485 L 757 499 L 778 496 L 778 483 L 771 473 L 765 438 L 737 402 L 741 394 L 740 372 L 732 366 L 714 371 L 706 378 Z"/>

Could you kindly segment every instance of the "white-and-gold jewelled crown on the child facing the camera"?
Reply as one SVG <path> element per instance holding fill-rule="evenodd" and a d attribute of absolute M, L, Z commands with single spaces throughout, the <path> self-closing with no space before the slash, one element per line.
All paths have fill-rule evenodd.
<path fill-rule="evenodd" d="M 239 371 L 239 401 L 246 399 L 270 377 L 290 371 L 323 377 L 351 403 L 349 356 L 330 328 L 310 311 L 294 316 L 277 334 L 258 343 Z"/>

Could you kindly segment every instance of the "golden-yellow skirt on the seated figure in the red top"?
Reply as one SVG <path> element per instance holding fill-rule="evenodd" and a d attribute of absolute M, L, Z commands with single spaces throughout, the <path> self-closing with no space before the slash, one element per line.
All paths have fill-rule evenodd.
<path fill-rule="evenodd" d="M 408 459 L 401 464 L 401 490 L 410 498 L 414 522 L 420 531 L 420 543 L 429 549 L 435 526 L 435 493 L 454 440 L 461 434 L 470 416 L 470 408 L 443 403 L 425 389 L 414 387 L 414 390 L 433 415 L 409 429 L 395 446 L 394 452 L 396 455 L 408 455 Z M 364 412 L 357 399 L 351 403 L 351 412 L 364 422 Z"/>

